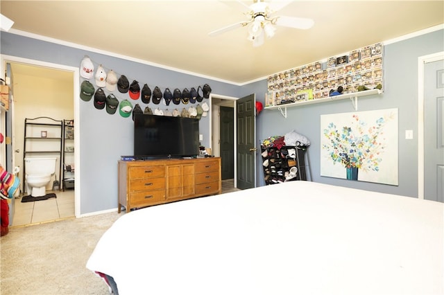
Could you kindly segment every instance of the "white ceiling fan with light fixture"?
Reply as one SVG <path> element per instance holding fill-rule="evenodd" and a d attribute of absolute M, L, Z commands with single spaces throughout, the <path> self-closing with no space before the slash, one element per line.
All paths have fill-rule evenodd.
<path fill-rule="evenodd" d="M 248 27 L 248 40 L 253 42 L 253 46 L 261 46 L 264 44 L 264 37 L 273 37 L 275 34 L 275 26 L 285 26 L 289 28 L 308 29 L 314 25 L 313 19 L 303 17 L 286 17 L 273 16 L 292 1 L 275 1 L 265 2 L 264 0 L 254 0 L 253 4 L 247 6 L 244 2 L 237 0 L 242 6 L 247 8 L 244 12 L 248 16 L 248 20 L 239 21 L 230 26 L 225 26 L 218 30 L 210 32 L 208 35 L 216 36 L 225 33 L 229 30 L 239 27 Z"/>

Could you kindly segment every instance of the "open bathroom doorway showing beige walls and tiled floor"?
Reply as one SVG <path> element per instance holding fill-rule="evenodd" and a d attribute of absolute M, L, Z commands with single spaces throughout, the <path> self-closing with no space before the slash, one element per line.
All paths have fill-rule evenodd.
<path fill-rule="evenodd" d="M 74 79 L 75 71 L 71 67 L 58 64 L 47 64 L 33 60 L 16 59 L 15 57 L 2 57 L 3 66 L 8 70 L 10 78 L 10 88 L 12 89 L 12 107 L 11 122 L 12 125 L 12 151 L 8 157 L 12 157 L 13 166 L 19 166 L 19 179 L 22 182 L 20 186 L 20 195 L 14 199 L 12 211 L 14 213 L 10 226 L 22 226 L 40 222 L 59 220 L 66 217 L 76 216 L 80 207 L 80 199 L 76 195 L 76 185 L 74 181 L 69 183 L 63 181 L 64 177 L 70 175 L 74 177 L 74 168 L 76 167 L 76 149 L 78 145 L 74 136 L 74 128 L 71 128 L 69 134 L 69 144 L 65 143 L 65 133 L 59 134 L 61 138 L 60 154 L 57 157 L 56 172 L 51 181 L 46 185 L 46 193 L 55 193 L 56 197 L 49 199 L 22 202 L 22 197 L 30 195 L 28 186 L 24 186 L 24 149 L 25 149 L 25 119 L 49 117 L 62 121 L 61 132 L 66 132 L 63 123 L 69 123 L 74 127 L 76 122 L 76 101 L 74 100 Z M 78 77 L 77 77 L 78 78 Z M 49 127 L 51 129 L 51 127 Z M 52 136 L 42 130 L 40 136 Z M 35 136 L 33 134 L 32 136 Z M 49 140 L 51 141 L 51 140 Z M 55 139 L 58 141 L 58 139 Z M 28 144 L 28 143 L 27 143 Z M 35 143 L 34 143 L 35 144 Z M 41 144 L 41 143 L 40 143 Z M 67 152 L 65 152 L 67 148 Z M 28 149 L 28 148 L 27 148 Z M 66 156 L 66 155 L 67 156 Z M 28 154 L 26 157 L 49 157 L 50 154 Z M 65 159 L 65 160 L 64 160 Z M 65 165 L 65 161 L 68 161 Z M 67 171 L 67 166 L 68 170 Z M 59 167 L 61 169 L 59 169 Z M 70 172 L 70 173 L 67 173 Z"/>

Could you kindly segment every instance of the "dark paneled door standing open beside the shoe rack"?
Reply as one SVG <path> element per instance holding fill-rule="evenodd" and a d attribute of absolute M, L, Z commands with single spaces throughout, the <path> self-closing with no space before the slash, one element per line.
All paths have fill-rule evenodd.
<path fill-rule="evenodd" d="M 256 96 L 236 100 L 237 188 L 256 186 Z"/>

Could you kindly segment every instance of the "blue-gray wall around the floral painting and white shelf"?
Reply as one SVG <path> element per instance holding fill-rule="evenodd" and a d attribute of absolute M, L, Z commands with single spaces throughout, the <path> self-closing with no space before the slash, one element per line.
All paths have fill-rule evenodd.
<path fill-rule="evenodd" d="M 350 48 L 352 50 L 353 48 Z M 384 46 L 384 93 L 358 98 L 358 111 L 398 108 L 399 185 L 388 186 L 362 181 L 321 177 L 320 118 L 323 114 L 355 111 L 350 100 L 336 100 L 287 109 L 287 118 L 278 110 L 264 110 L 257 116 L 257 138 L 284 135 L 291 130 L 309 138 L 308 149 L 313 181 L 350 188 L 374 190 L 410 197 L 418 196 L 418 57 L 444 51 L 444 30 L 420 35 Z M 298 65 L 295 65 L 298 66 Z M 290 67 L 289 67 L 290 68 Z M 266 81 L 248 84 L 241 96 L 256 92 L 264 102 Z M 404 138 L 404 130 L 413 130 L 413 139 Z M 259 157 L 258 157 L 259 160 Z M 260 162 L 259 162 L 260 163 Z M 262 167 L 258 166 L 258 184 L 264 185 Z"/>

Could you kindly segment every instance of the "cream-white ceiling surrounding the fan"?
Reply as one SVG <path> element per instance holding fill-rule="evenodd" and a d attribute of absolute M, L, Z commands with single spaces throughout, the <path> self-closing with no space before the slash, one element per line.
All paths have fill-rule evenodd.
<path fill-rule="evenodd" d="M 253 1 L 243 1 L 250 5 Z M 291 1 L 275 15 L 308 17 L 253 47 L 237 1 L 5 1 L 11 32 L 33 33 L 243 84 L 444 23 L 444 1 Z M 80 60 L 79 60 L 80 63 Z"/>

